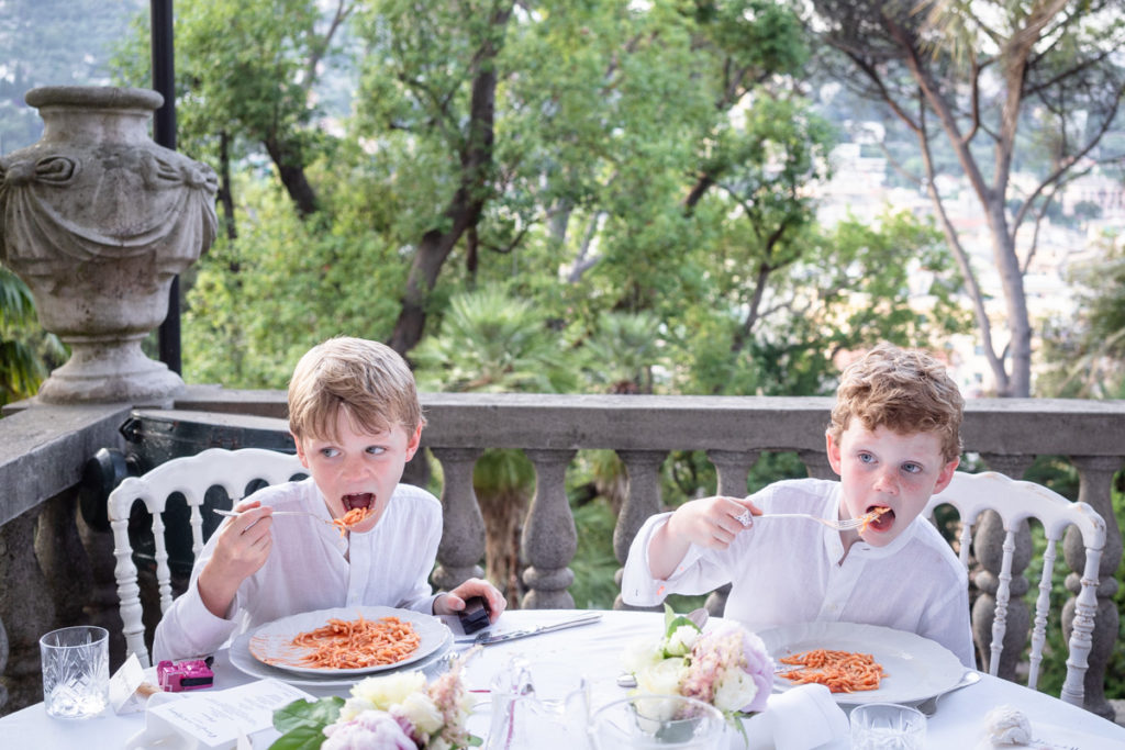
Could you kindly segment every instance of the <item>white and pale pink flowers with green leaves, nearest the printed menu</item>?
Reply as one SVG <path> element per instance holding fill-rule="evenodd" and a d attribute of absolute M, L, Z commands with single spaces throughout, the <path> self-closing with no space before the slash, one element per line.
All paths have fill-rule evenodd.
<path fill-rule="evenodd" d="M 464 750 L 480 744 L 468 733 L 471 701 L 464 657 L 433 683 L 421 671 L 368 677 L 351 697 L 295 701 L 273 713 L 281 737 L 270 750 Z"/>

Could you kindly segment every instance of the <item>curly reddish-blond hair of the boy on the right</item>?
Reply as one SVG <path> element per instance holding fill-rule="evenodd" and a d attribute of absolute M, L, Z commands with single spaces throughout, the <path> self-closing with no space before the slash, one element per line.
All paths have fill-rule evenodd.
<path fill-rule="evenodd" d="M 964 406 L 957 385 L 933 355 L 884 343 L 845 368 L 828 432 L 839 443 L 855 418 L 868 431 L 936 433 L 943 458 L 953 461 L 961 455 Z"/>

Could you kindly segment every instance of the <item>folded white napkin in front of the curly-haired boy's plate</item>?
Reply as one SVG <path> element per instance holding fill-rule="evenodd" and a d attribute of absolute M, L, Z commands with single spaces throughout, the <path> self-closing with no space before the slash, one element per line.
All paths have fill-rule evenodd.
<path fill-rule="evenodd" d="M 848 737 L 847 714 L 824 685 L 799 685 L 771 695 L 755 719 L 759 721 L 753 722 L 752 748 L 811 750 Z"/>

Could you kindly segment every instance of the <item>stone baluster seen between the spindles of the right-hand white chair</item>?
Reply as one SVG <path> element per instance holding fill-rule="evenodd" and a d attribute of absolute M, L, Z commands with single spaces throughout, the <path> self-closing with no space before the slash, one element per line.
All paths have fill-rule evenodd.
<path fill-rule="evenodd" d="M 1032 462 L 1033 455 L 1007 455 L 1000 453 L 982 453 L 981 458 L 989 469 L 999 471 L 1012 479 L 1020 479 Z M 973 640 L 981 666 L 989 670 L 992 662 L 994 626 L 999 621 L 1004 627 L 1004 639 L 1000 641 L 1000 663 L 996 674 L 1005 679 L 1017 679 L 1016 669 L 1023 659 L 1027 645 L 1027 634 L 1032 624 L 1032 612 L 1024 596 L 1030 588 L 1024 576 L 1032 560 L 1032 533 L 1027 522 L 1020 522 L 1010 537 L 1004 530 L 1004 522 L 994 510 L 986 510 L 980 518 L 962 518 L 962 523 L 973 524 L 973 553 L 981 570 L 973 575 L 973 584 L 980 594 L 972 606 Z M 1004 570 L 1005 548 L 1011 548 L 1011 569 Z M 997 606 L 997 591 L 1007 585 L 1009 599 L 1007 606 Z"/>

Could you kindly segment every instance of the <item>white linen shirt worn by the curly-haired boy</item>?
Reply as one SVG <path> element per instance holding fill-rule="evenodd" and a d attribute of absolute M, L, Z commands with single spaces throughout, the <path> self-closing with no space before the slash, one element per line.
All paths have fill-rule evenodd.
<path fill-rule="evenodd" d="M 839 482 L 774 482 L 750 498 L 765 513 L 837 518 Z M 667 580 L 652 578 L 648 545 L 670 513 L 645 522 L 629 549 L 621 597 L 654 606 L 668 594 L 705 594 L 731 584 L 724 617 L 752 631 L 803 622 L 852 622 L 917 633 L 975 667 L 965 568 L 918 516 L 885 546 L 860 540 L 844 557 L 838 531 L 796 518 L 755 518 L 726 550 L 692 544 Z M 842 561 L 843 558 L 843 561 Z"/>

